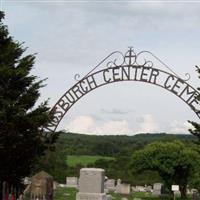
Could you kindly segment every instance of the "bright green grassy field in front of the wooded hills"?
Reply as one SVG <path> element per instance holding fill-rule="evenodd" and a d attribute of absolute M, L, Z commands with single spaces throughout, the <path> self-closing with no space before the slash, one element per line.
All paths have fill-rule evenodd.
<path fill-rule="evenodd" d="M 114 158 L 113 157 L 105 157 L 105 156 L 70 155 L 70 156 L 67 156 L 67 165 L 70 167 L 75 167 L 77 164 L 87 166 L 88 164 L 95 163 L 99 159 L 113 160 Z"/>

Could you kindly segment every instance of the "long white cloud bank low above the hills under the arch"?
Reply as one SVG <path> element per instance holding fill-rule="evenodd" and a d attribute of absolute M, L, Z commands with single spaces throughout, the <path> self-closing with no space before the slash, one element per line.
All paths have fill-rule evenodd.
<path fill-rule="evenodd" d="M 70 132 L 89 135 L 134 135 L 156 132 L 183 134 L 187 133 L 189 128 L 192 128 L 190 123 L 178 120 L 161 127 L 161 124 L 155 120 L 152 114 L 142 115 L 135 122 L 128 119 L 105 119 L 99 121 L 93 116 L 82 115 L 75 117 L 65 126 L 65 129 Z"/>

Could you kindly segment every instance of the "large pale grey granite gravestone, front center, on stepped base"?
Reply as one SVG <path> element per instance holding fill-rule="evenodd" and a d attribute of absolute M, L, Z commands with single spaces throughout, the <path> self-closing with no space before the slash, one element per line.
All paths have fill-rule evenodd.
<path fill-rule="evenodd" d="M 104 169 L 82 168 L 80 170 L 79 192 L 76 194 L 76 200 L 106 200 L 104 174 Z"/>

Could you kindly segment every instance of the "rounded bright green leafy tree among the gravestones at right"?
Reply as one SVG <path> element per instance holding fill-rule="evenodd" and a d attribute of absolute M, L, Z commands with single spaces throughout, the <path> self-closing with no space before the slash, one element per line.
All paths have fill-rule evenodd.
<path fill-rule="evenodd" d="M 190 176 L 198 171 L 200 155 L 180 141 L 155 142 L 132 156 L 133 171 L 155 170 L 165 181 L 170 191 L 172 184 L 180 186 L 182 198 L 186 197 L 186 187 Z"/>

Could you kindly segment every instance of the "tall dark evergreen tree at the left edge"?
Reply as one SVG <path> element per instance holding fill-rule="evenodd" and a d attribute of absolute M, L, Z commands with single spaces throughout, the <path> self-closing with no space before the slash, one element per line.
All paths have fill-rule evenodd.
<path fill-rule="evenodd" d="M 30 74 L 35 55 L 9 35 L 0 12 L 0 182 L 17 184 L 47 149 L 41 127 L 49 120 L 47 101 L 36 106 L 44 80 Z"/>

